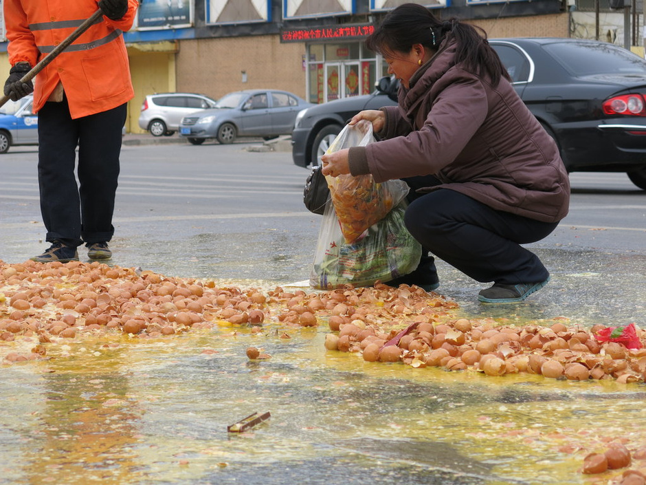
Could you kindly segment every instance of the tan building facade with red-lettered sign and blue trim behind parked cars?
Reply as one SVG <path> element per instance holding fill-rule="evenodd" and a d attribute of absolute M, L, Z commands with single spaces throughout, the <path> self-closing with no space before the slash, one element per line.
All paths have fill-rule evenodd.
<path fill-rule="evenodd" d="M 441 19 L 479 25 L 491 38 L 567 37 L 577 25 L 576 9 L 568 6 L 574 0 L 413 1 Z M 604 12 L 610 10 L 609 0 L 598 1 Z M 140 107 L 146 95 L 157 92 L 219 98 L 238 89 L 273 87 L 313 103 L 366 94 L 387 66 L 363 40 L 401 3 L 405 0 L 142 0 L 135 27 L 124 34 L 135 87 L 126 130 L 142 132 Z M 0 75 L 6 77 L 6 41 L 0 43 L 0 58 Z"/>

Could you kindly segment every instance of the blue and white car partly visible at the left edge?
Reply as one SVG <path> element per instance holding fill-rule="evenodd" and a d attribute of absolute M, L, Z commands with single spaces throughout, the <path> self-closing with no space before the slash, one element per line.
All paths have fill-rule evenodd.
<path fill-rule="evenodd" d="M 0 153 L 12 145 L 38 144 L 38 115 L 32 113 L 32 95 L 7 101 L 0 107 Z"/>

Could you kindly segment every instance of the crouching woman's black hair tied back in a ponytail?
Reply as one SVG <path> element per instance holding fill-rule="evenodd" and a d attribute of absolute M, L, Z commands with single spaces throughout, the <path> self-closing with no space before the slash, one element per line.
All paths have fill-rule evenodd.
<path fill-rule="evenodd" d="M 366 39 L 366 47 L 382 55 L 410 52 L 414 44 L 438 50 L 449 34 L 458 43 L 456 63 L 464 63 L 475 74 L 488 74 L 493 86 L 498 85 L 501 77 L 510 79 L 498 54 L 487 42 L 485 30 L 460 22 L 456 17 L 440 21 L 428 8 L 417 3 L 403 3 L 388 12 Z"/>

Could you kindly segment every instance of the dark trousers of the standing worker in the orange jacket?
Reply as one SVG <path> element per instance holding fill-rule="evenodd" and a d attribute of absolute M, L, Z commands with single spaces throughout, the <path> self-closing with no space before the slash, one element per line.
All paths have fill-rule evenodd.
<path fill-rule="evenodd" d="M 126 109 L 124 104 L 73 120 L 64 98 L 38 111 L 38 186 L 47 241 L 79 246 L 112 238 Z"/>

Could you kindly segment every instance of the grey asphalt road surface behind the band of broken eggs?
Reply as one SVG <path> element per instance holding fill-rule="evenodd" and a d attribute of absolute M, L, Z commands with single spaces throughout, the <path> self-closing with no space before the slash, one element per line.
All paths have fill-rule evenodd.
<path fill-rule="evenodd" d="M 307 289 L 321 217 L 302 205 L 308 171 L 289 142 L 193 146 L 177 137 L 126 136 L 109 263 L 240 285 Z M 37 151 L 0 155 L 0 259 L 42 252 Z M 471 318 L 646 325 L 646 191 L 623 173 L 573 173 L 570 214 L 527 247 L 552 281 L 517 305 L 484 305 L 488 286 L 438 261 L 438 292 Z M 85 260 L 85 250 L 80 251 Z"/>

